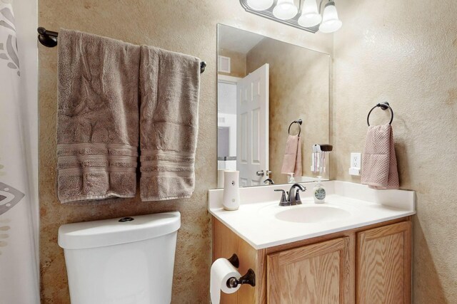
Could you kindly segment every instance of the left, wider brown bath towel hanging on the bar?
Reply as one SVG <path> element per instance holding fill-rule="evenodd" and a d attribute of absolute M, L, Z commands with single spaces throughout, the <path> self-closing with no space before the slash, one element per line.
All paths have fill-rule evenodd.
<path fill-rule="evenodd" d="M 61 203 L 135 196 L 139 60 L 139 46 L 61 29 L 57 112 Z"/>

